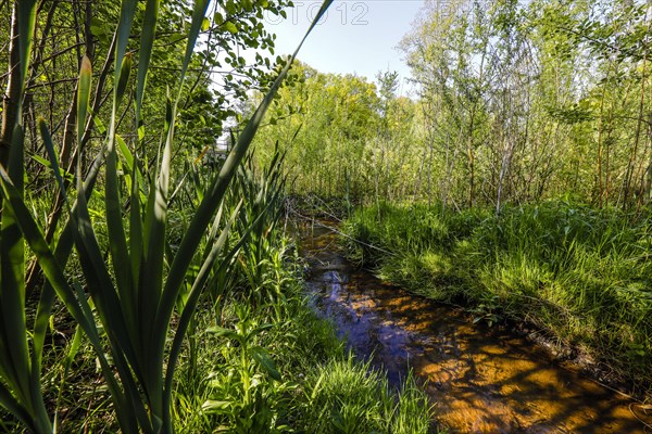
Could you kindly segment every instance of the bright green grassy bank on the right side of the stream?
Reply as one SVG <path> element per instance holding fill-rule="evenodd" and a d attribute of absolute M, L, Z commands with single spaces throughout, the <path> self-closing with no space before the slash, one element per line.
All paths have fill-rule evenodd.
<path fill-rule="evenodd" d="M 477 319 L 527 321 L 641 385 L 652 380 L 652 221 L 565 202 L 443 212 L 381 204 L 346 232 L 353 258 Z M 385 251 L 385 252 L 384 252 Z M 389 253 L 391 252 L 391 253 Z"/>

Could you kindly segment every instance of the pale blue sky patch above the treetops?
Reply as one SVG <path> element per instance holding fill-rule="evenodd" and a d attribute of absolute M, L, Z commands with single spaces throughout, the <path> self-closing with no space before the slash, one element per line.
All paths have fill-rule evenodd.
<path fill-rule="evenodd" d="M 322 4 L 318 0 L 293 3 L 287 20 L 265 16 L 266 29 L 277 36 L 276 54 L 294 51 Z M 305 41 L 299 60 L 322 73 L 355 73 L 369 81 L 379 71 L 398 71 L 403 80 L 410 68 L 397 46 L 423 4 L 423 0 L 336 0 Z"/>

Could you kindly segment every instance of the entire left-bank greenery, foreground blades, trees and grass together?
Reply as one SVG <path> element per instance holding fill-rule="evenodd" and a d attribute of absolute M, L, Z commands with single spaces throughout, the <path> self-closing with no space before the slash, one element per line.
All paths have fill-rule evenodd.
<path fill-rule="evenodd" d="M 283 157 L 241 165 L 296 56 L 266 59 L 263 13 L 288 5 L 0 2 L 0 431 L 427 432 L 414 382 L 304 303 Z"/>

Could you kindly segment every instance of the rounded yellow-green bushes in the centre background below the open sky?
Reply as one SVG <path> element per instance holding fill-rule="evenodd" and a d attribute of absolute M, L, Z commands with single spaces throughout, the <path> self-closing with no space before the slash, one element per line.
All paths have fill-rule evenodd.
<path fill-rule="evenodd" d="M 300 65 L 294 76 L 297 82 L 280 90 L 269 125 L 261 130 L 259 164 L 272 157 L 279 142 L 292 193 L 356 201 L 375 190 L 376 178 L 384 191 L 392 182 L 396 186 L 400 164 L 392 157 L 410 140 L 409 126 L 403 123 L 405 129 L 400 128 L 410 117 L 405 113 L 412 107 L 410 100 L 384 102 L 376 86 L 364 78 L 322 74 L 308 65 Z M 398 128 L 378 150 L 384 123 Z"/>

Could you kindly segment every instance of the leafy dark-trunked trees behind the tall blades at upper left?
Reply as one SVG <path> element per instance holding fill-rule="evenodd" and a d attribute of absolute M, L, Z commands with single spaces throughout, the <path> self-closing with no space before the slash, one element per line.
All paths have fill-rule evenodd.
<path fill-rule="evenodd" d="M 12 10 L 15 2 L 2 2 L 0 26 L 0 88 L 7 89 L 3 120 L 11 116 L 11 95 L 8 87 L 15 62 L 10 62 L 10 34 Z M 248 64 L 238 53 L 244 48 L 256 50 L 258 58 L 269 58 L 273 37 L 263 28 L 263 13 L 279 14 L 287 1 L 256 2 L 244 8 L 237 2 L 214 4 L 211 20 L 205 18 L 196 55 L 189 65 L 189 78 L 184 84 L 184 98 L 179 107 L 177 126 L 178 148 L 202 150 L 214 144 L 223 131 L 223 124 L 235 115 L 237 105 L 247 98 L 251 88 L 264 88 L 269 84 L 273 63 Z M 105 118 L 109 113 L 110 94 L 113 91 L 114 33 L 118 22 L 120 2 L 43 0 L 37 5 L 37 21 L 29 69 L 25 84 L 24 113 L 27 132 L 28 157 L 45 157 L 45 149 L 38 138 L 37 118 L 46 119 L 52 138 L 60 145 L 61 164 L 67 168 L 73 161 L 75 146 L 77 76 L 84 55 L 93 67 L 91 110 Z M 191 4 L 185 1 L 166 1 L 160 4 L 155 40 L 148 74 L 149 91 L 143 102 L 141 117 L 145 140 L 139 153 L 154 157 L 163 126 L 167 89 L 178 82 L 187 31 L 190 25 Z M 138 42 L 142 33 L 146 4 L 138 3 L 138 14 L 129 38 L 127 51 L 134 67 L 138 65 Z M 241 31 L 240 31 L 241 30 Z M 136 77 L 126 84 L 127 95 L 135 94 Z M 118 131 L 131 143 L 135 124 L 133 104 L 126 104 L 120 113 Z M 9 128 L 10 119 L 3 123 Z M 189 127 L 192 127 L 189 129 Z M 84 136 L 86 159 L 95 156 L 98 143 L 103 139 L 103 128 L 89 123 Z M 9 131 L 3 131 L 3 143 L 9 143 Z M 95 146 L 95 148 L 92 148 Z M 87 150 L 92 148 L 92 150 Z M 196 152 L 197 154 L 198 152 Z M 38 158 L 28 158 L 27 168 L 32 182 L 46 184 L 47 170 Z M 46 177 L 40 179 L 39 177 Z M 46 189 L 48 190 L 48 189 Z M 50 189 L 51 190 L 51 189 Z"/>

